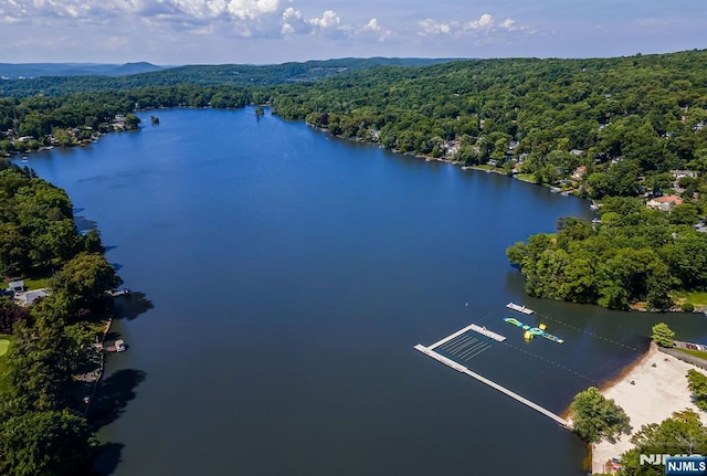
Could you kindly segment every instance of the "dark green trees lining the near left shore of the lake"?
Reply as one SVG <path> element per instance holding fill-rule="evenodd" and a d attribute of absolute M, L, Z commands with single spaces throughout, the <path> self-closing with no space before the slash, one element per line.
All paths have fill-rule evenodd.
<path fill-rule="evenodd" d="M 0 473 L 89 474 L 98 442 L 85 416 L 86 373 L 119 285 L 96 231 L 81 235 L 66 193 L 29 169 L 0 162 L 0 269 L 48 276 L 28 307 L 0 297 L 0 335 L 11 335 L 0 374 Z M 4 286 L 3 286 L 4 287 Z"/>

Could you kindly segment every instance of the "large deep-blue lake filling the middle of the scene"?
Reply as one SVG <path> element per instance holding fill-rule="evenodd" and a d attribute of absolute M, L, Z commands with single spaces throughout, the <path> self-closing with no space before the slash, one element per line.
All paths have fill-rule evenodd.
<path fill-rule="evenodd" d="M 486 326 L 508 339 L 469 368 L 561 413 L 657 321 L 707 341 L 697 315 L 524 295 L 506 247 L 591 218 L 585 201 L 253 108 L 139 116 L 29 159 L 134 292 L 99 394 L 104 474 L 582 475 L 574 435 L 413 346 Z M 504 317 L 564 343 L 525 342 Z"/>

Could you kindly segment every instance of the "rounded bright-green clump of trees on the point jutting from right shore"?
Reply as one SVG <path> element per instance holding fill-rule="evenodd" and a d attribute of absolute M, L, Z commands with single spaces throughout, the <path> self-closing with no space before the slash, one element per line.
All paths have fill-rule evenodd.
<path fill-rule="evenodd" d="M 707 234 L 639 199 L 608 200 L 601 223 L 564 219 L 557 233 L 530 236 L 506 255 L 529 295 L 613 309 L 639 302 L 667 309 L 671 290 L 707 286 Z"/>

